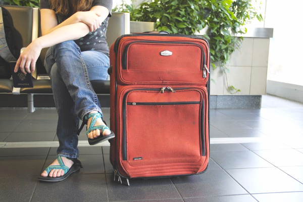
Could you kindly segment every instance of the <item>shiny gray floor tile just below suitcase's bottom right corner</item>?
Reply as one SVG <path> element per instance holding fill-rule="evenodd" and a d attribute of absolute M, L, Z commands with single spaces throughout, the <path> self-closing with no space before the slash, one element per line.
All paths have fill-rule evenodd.
<path fill-rule="evenodd" d="M 208 170 L 172 180 L 183 198 L 247 194 L 224 170 Z"/>

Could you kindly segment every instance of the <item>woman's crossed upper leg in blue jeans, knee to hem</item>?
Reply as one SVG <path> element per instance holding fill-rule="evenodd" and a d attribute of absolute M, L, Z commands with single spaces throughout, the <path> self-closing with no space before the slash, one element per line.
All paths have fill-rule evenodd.
<path fill-rule="evenodd" d="M 45 62 L 57 63 L 58 72 L 74 100 L 77 116 L 82 120 L 90 111 L 100 112 L 79 46 L 74 41 L 65 41 L 54 45 L 47 53 Z"/>

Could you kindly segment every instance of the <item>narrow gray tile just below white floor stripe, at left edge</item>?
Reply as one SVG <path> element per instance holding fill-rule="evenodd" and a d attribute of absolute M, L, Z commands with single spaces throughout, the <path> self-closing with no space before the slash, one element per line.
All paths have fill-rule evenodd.
<path fill-rule="evenodd" d="M 45 156 L 48 153 L 48 147 L 24 147 L 24 148 L 1 148 L 0 157 L 17 156 Z"/>

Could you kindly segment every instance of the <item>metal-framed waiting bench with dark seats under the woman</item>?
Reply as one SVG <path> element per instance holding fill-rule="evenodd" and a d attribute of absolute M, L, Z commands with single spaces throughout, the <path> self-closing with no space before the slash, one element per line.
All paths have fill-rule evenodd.
<path fill-rule="evenodd" d="M 18 48 L 27 46 L 32 40 L 41 35 L 39 9 L 19 6 L 5 6 L 11 13 L 14 26 L 20 33 L 22 43 L 18 43 Z M 20 20 L 22 19 L 22 20 Z M 27 19 L 27 20 L 24 20 Z M 113 12 L 109 20 L 107 31 L 107 42 L 109 46 L 123 34 L 129 33 L 129 13 Z M 19 39 L 18 39 L 19 40 Z M 0 79 L 0 93 L 27 94 L 28 112 L 34 112 L 34 94 L 52 94 L 51 84 L 46 70 L 43 66 L 47 48 L 42 49 L 36 64 L 36 75 L 33 75 L 33 88 L 14 88 L 11 79 Z M 91 82 L 96 94 L 110 94 L 110 81 L 95 80 Z"/>

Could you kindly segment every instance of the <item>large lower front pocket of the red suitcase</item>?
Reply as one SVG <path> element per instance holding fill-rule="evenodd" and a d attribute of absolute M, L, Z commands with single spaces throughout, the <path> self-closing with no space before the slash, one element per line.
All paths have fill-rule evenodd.
<path fill-rule="evenodd" d="M 145 89 L 127 94 L 123 104 L 123 161 L 205 156 L 203 96 L 193 89 L 174 91 Z M 184 95 L 194 98 L 179 98 Z"/>

